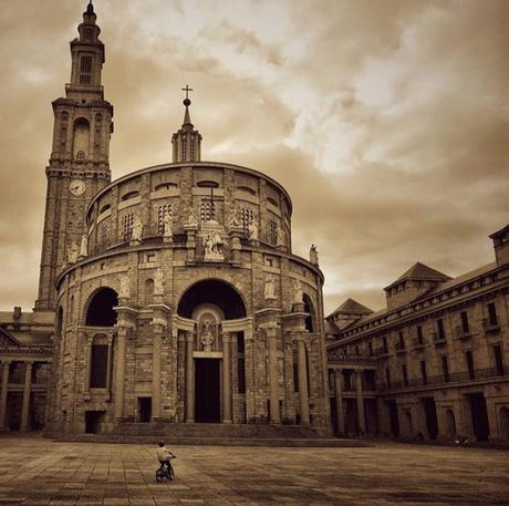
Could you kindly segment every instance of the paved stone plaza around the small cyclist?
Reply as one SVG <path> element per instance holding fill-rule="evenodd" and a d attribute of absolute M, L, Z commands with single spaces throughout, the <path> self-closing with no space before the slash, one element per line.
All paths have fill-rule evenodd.
<path fill-rule="evenodd" d="M 155 448 L 0 437 L 0 505 L 508 505 L 509 453 L 376 443 L 360 448 Z"/>

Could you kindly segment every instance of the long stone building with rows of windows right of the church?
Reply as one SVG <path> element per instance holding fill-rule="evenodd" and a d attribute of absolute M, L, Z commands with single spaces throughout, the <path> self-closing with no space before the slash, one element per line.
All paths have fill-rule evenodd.
<path fill-rule="evenodd" d="M 336 432 L 509 443 L 509 226 L 490 238 L 492 264 L 454 279 L 416 264 L 386 309 L 326 318 Z"/>

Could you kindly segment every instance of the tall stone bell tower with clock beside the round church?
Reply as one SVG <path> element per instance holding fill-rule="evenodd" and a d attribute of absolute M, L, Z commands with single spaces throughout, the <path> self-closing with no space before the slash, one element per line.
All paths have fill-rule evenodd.
<path fill-rule="evenodd" d="M 90 0 L 71 41 L 71 82 L 53 101 L 53 145 L 48 189 L 37 310 L 54 310 L 55 279 L 86 233 L 87 204 L 111 180 L 110 137 L 113 105 L 104 100 L 101 73 L 105 48 Z M 86 241 L 86 239 L 85 239 Z M 71 259 L 72 261 L 72 259 Z M 75 260 L 74 260 L 75 261 Z"/>

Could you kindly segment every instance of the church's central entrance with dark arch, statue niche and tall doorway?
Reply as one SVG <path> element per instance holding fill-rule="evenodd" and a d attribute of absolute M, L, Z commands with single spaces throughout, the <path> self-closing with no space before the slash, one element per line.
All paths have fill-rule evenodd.
<path fill-rule="evenodd" d="M 183 295 L 177 313 L 193 321 L 186 344 L 186 420 L 198 423 L 230 423 L 231 361 L 239 364 L 241 333 L 225 331 L 225 322 L 246 317 L 238 291 L 225 281 L 207 279 Z M 235 343 L 235 345 L 233 345 Z M 242 343 L 243 347 L 243 343 Z"/>

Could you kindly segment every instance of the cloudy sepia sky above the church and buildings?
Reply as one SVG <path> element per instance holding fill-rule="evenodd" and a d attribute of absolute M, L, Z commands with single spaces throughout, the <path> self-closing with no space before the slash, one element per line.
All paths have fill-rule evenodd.
<path fill-rule="evenodd" d="M 269 174 L 325 311 L 419 260 L 492 261 L 509 221 L 509 1 L 95 0 L 114 178 L 168 162 L 189 83 L 204 159 Z M 0 0 L 0 309 L 37 297 L 51 101 L 85 0 Z"/>

